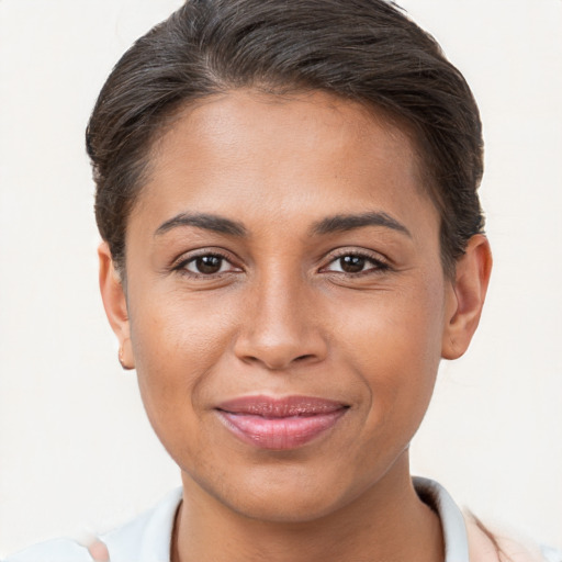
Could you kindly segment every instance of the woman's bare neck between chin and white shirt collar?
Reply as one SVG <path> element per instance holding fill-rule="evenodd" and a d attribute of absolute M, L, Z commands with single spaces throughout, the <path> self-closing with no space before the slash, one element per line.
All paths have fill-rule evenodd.
<path fill-rule="evenodd" d="M 439 518 L 418 498 L 404 454 L 350 504 L 299 522 L 235 513 L 184 476 L 172 562 L 442 562 Z"/>

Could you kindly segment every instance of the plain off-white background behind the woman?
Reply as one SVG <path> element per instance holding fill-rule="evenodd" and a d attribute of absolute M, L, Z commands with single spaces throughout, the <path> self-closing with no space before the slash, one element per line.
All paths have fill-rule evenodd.
<path fill-rule="evenodd" d="M 104 530 L 179 475 L 97 288 L 83 128 L 119 56 L 179 0 L 0 0 L 0 555 Z M 562 547 L 562 1 L 407 0 L 481 105 L 495 270 L 413 443 L 485 521 Z"/>

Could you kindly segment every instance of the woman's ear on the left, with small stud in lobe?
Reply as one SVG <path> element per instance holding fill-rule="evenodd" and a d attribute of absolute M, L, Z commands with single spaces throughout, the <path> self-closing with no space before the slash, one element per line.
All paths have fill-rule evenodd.
<path fill-rule="evenodd" d="M 98 257 L 100 258 L 101 299 L 111 327 L 119 339 L 119 359 L 124 369 L 134 369 L 135 358 L 131 346 L 131 325 L 125 291 L 108 243 L 100 244 Z"/>

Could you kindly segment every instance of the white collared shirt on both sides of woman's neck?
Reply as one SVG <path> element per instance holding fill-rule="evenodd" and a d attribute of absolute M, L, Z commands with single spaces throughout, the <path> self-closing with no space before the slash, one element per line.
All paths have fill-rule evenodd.
<path fill-rule="evenodd" d="M 437 482 L 414 477 L 414 486 L 439 515 L 445 542 L 446 562 L 470 562 L 469 539 L 464 517 L 449 493 Z M 108 547 L 111 562 L 170 562 L 170 544 L 176 512 L 181 502 L 181 488 L 168 494 L 156 507 L 138 516 L 131 522 L 111 531 L 101 540 Z M 482 549 L 481 549 L 482 551 Z M 485 551 L 485 549 L 484 549 Z M 490 551 L 477 555 L 480 560 L 496 560 Z M 4 562 L 91 562 L 87 549 L 68 540 L 59 539 L 36 544 Z M 562 553 L 544 548 L 540 558 L 521 560 L 542 560 L 562 562 Z"/>

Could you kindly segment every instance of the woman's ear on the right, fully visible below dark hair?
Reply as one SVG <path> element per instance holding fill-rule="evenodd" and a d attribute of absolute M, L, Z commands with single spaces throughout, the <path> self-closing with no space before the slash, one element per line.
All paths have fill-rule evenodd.
<path fill-rule="evenodd" d="M 490 244 L 483 234 L 476 234 L 457 261 L 454 280 L 448 288 L 441 341 L 443 359 L 457 359 L 469 348 L 480 322 L 491 272 Z"/>

